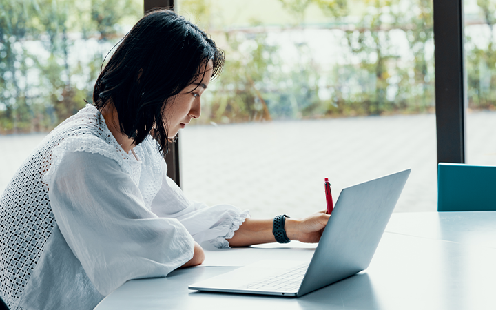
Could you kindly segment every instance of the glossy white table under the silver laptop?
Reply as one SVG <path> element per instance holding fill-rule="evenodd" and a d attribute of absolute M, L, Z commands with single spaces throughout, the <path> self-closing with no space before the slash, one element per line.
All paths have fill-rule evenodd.
<path fill-rule="evenodd" d="M 202 266 L 126 282 L 96 310 L 496 309 L 496 212 L 393 214 L 368 269 L 300 298 L 187 289 L 260 259 L 310 260 L 315 247 L 273 246 L 206 251 Z"/>

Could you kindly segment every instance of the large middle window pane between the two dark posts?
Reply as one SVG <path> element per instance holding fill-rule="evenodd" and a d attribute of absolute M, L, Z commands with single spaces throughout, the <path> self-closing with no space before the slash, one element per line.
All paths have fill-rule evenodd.
<path fill-rule="evenodd" d="M 185 192 L 254 216 L 303 216 L 413 168 L 396 211 L 435 211 L 432 2 L 178 0 L 226 52 L 181 132 Z"/>

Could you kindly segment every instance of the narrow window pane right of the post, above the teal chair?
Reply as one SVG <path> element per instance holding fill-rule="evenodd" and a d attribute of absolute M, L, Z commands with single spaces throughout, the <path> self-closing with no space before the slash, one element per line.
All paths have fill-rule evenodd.
<path fill-rule="evenodd" d="M 465 0 L 467 163 L 496 165 L 496 1 Z"/>

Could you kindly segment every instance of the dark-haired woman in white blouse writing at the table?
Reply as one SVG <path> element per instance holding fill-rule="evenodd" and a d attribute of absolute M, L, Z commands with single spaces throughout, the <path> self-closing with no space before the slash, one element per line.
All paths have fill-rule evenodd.
<path fill-rule="evenodd" d="M 318 242 L 329 216 L 255 220 L 189 201 L 167 178 L 170 138 L 200 117 L 223 65 L 214 41 L 156 10 L 125 36 L 86 105 L 41 142 L 0 198 L 0 296 L 10 309 L 93 309 L 135 278 L 199 265 L 200 246 Z M 286 234 L 286 235 L 285 235 Z"/>

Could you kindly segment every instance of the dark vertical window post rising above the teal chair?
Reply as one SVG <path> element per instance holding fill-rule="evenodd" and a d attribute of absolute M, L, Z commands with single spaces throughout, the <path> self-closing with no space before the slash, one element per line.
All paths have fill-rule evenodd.
<path fill-rule="evenodd" d="M 462 0 L 434 0 L 437 162 L 466 163 Z"/>

